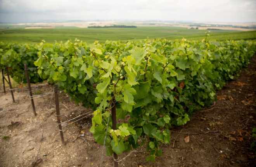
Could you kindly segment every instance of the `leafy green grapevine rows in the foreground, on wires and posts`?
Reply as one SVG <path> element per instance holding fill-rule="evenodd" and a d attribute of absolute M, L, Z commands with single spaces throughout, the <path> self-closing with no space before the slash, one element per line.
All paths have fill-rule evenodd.
<path fill-rule="evenodd" d="M 221 101 L 216 91 L 237 77 L 255 51 L 254 40 L 208 41 L 207 34 L 202 41 L 0 43 L 4 75 L 8 71 L 19 85 L 27 83 L 27 64 L 35 86 L 55 84 L 64 96 L 91 111 L 92 119 L 86 120 L 90 133 L 104 145 L 104 154 L 114 156 L 115 166 L 121 164 L 118 157 L 128 157 L 141 147 L 146 149 L 145 161 L 157 162 L 164 155 L 163 146 L 174 148 L 172 129 L 186 126 L 194 112 Z M 63 126 L 67 121 L 61 119 L 58 124 Z"/>

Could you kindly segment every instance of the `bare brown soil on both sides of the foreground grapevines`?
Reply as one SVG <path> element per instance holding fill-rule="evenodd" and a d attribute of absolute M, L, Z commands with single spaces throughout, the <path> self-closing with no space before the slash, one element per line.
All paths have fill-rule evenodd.
<path fill-rule="evenodd" d="M 237 79 L 217 92 L 216 103 L 194 113 L 186 125 L 173 127 L 171 143 L 162 147 L 163 156 L 157 157 L 155 164 L 146 162 L 148 154 L 146 148 L 141 147 L 128 157 L 126 153 L 121 154 L 120 160 L 126 158 L 119 162 L 119 167 L 256 166 L 255 150 L 249 150 L 253 142 L 252 129 L 256 127 L 255 83 L 256 56 Z M 94 142 L 89 132 L 90 115 L 64 127 L 66 145 L 63 146 L 54 98 L 51 101 L 52 86 L 36 84 L 32 89 L 38 94 L 50 93 L 35 99 L 36 117 L 26 89 L 14 93 L 16 103 L 12 103 L 9 91 L 4 94 L 0 90 L 0 108 L 3 108 L 0 110 L 0 167 L 99 167 L 102 146 Z M 90 114 L 90 110 L 69 102 L 63 92 L 60 103 L 62 122 Z M 184 138 L 188 136 L 189 142 L 185 143 Z M 102 167 L 112 166 L 112 160 L 104 152 Z"/>

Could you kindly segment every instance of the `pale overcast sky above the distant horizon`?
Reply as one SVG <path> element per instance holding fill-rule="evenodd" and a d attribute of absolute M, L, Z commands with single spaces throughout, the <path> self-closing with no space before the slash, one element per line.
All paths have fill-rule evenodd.
<path fill-rule="evenodd" d="M 256 0 L 0 0 L 0 22 L 43 20 L 256 22 Z"/>

